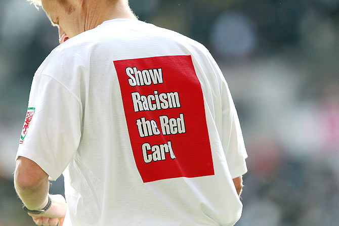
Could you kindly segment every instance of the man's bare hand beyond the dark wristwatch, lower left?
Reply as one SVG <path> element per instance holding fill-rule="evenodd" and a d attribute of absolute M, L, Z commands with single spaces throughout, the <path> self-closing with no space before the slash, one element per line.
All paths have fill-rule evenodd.
<path fill-rule="evenodd" d="M 28 215 L 33 218 L 36 225 L 62 226 L 67 210 L 66 200 L 62 195 L 50 195 L 50 197 L 52 199 L 52 205 L 45 213 L 28 213 Z"/>

